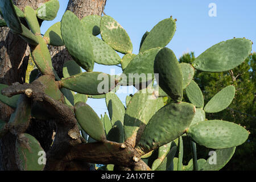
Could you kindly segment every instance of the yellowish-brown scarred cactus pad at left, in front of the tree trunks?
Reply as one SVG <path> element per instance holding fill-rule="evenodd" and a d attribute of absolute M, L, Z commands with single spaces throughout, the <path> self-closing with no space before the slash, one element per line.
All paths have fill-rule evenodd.
<path fill-rule="evenodd" d="M 43 73 L 43 75 L 54 75 L 52 67 L 52 59 L 49 53 L 46 42 L 41 36 L 36 36 L 39 44 L 32 49 L 31 56 L 36 64 L 36 67 Z"/>

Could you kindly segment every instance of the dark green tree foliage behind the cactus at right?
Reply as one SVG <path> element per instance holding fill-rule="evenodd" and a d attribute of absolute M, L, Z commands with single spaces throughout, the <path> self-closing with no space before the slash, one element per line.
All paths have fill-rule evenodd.
<path fill-rule="evenodd" d="M 191 64 L 195 60 L 195 53 L 185 53 L 180 57 L 180 63 Z M 256 105 L 255 105 L 255 61 L 256 53 L 251 54 L 238 67 L 221 73 L 208 73 L 195 70 L 194 80 L 200 86 L 204 94 L 204 101 L 207 103 L 214 94 L 218 93 L 222 88 L 228 85 L 236 87 L 236 96 L 229 107 L 219 113 L 206 113 L 207 119 L 222 119 L 230 121 L 241 126 L 245 126 L 250 131 L 249 139 L 241 146 L 236 148 L 236 152 L 230 162 L 223 170 L 255 170 L 256 164 Z M 185 95 L 185 93 L 184 93 Z M 188 98 L 185 95 L 185 100 Z M 201 151 L 201 146 L 200 147 Z M 204 148 L 204 147 L 203 147 Z M 207 149 L 200 152 L 199 158 L 207 158 Z M 189 161 L 191 155 L 188 154 Z"/>

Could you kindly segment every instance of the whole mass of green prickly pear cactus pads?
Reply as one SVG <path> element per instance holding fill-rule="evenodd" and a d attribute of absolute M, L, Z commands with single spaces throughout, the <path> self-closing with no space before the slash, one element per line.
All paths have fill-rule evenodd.
<path fill-rule="evenodd" d="M 71 11 L 66 11 L 61 22 L 53 24 L 42 37 L 38 19 L 54 19 L 59 1 L 48 1 L 37 10 L 27 6 L 23 12 L 11 0 L 1 0 L 0 8 L 1 26 L 8 26 L 31 47 L 31 56 L 38 69 L 31 73 L 30 83 L 39 81 L 47 96 L 70 107 L 86 142 L 128 144 L 139 154 L 139 159 L 134 160 L 143 160 L 152 170 L 219 170 L 232 158 L 236 146 L 247 140 L 249 131 L 244 127 L 205 118 L 205 113 L 216 113 L 230 105 L 235 96 L 234 86 L 222 89 L 205 105 L 203 93 L 193 76 L 195 69 L 223 72 L 237 67 L 251 52 L 250 40 L 234 38 L 220 42 L 201 53 L 191 65 L 179 63 L 174 52 L 166 47 L 176 31 L 176 19 L 172 16 L 143 35 L 139 53 L 135 55 L 127 32 L 108 15 L 88 15 L 80 20 Z M 29 29 L 20 18 L 26 19 Z M 63 67 L 64 78 L 60 79 L 53 69 L 47 44 L 65 46 L 71 54 L 73 60 Z M 117 52 L 124 54 L 122 59 Z M 93 72 L 94 62 L 121 64 L 126 77 Z M 36 78 L 38 71 L 43 76 Z M 154 73 L 158 73 L 159 81 L 158 86 L 148 84 L 147 88 L 127 96 L 124 106 L 115 94 L 119 86 L 143 82 L 130 77 L 130 73 L 151 74 L 147 83 L 154 79 Z M 106 92 L 97 89 L 102 82 L 98 80 L 99 75 L 109 79 Z M 17 136 L 15 155 L 20 170 L 42 170 L 44 165 L 38 164 L 38 152 L 43 148 L 34 137 L 24 133 L 21 126 L 28 125 L 31 117 L 47 116 L 42 113 L 40 102 L 34 104 L 24 94 L 6 97 L 3 95 L 5 88 L 8 85 L 0 84 L 0 100 L 15 111 L 8 123 L 0 121 L 0 137 L 9 130 Z M 147 89 L 154 90 L 143 92 Z M 183 101 L 184 91 L 191 103 Z M 164 102 L 167 96 L 172 100 L 170 104 Z M 88 98 L 105 98 L 110 118 L 106 113 L 99 118 L 85 103 Z M 183 166 L 183 137 L 191 142 L 192 159 L 188 166 Z M 210 164 L 209 159 L 197 160 L 196 144 L 214 150 L 217 163 Z M 108 164 L 99 169 L 113 170 L 113 167 L 114 164 Z"/>

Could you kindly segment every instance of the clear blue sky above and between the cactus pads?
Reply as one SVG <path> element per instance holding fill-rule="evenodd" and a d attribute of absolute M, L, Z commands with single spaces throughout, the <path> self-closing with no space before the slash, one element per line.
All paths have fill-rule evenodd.
<path fill-rule="evenodd" d="M 43 22 L 42 34 L 56 22 L 60 22 L 68 0 L 60 0 L 60 10 L 55 20 Z M 216 4 L 216 17 L 210 17 L 208 7 Z M 171 15 L 177 19 L 177 30 L 168 48 L 179 58 L 183 53 L 194 51 L 196 56 L 214 44 L 236 38 L 247 38 L 254 42 L 256 51 L 256 1 L 255 0 L 107 0 L 104 13 L 117 20 L 130 36 L 133 53 L 139 51 L 144 32 L 150 31 L 160 20 Z M 119 54 L 121 57 L 122 54 Z M 94 65 L 94 71 L 121 73 L 116 66 Z M 125 105 L 127 94 L 117 94 Z M 108 112 L 105 99 L 89 99 L 87 102 L 98 115 Z"/>

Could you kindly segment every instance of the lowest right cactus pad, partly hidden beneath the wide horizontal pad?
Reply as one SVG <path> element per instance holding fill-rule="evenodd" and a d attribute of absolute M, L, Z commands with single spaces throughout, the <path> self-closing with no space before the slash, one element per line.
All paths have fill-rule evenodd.
<path fill-rule="evenodd" d="M 201 166 L 200 171 L 218 171 L 222 167 L 224 167 L 229 160 L 232 158 L 234 152 L 236 151 L 236 147 L 232 148 L 224 148 L 216 150 L 216 164 L 210 164 L 212 162 L 211 157 L 207 159 L 207 162 Z"/>

